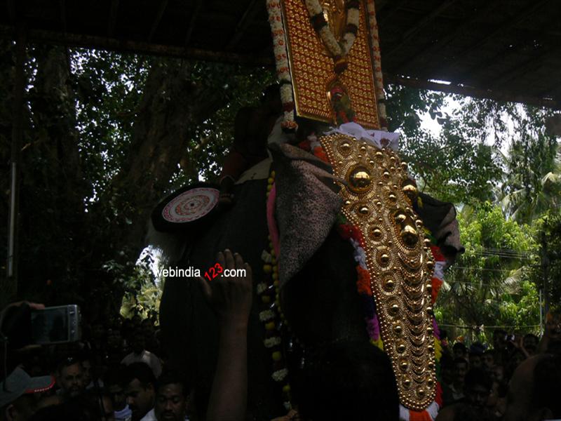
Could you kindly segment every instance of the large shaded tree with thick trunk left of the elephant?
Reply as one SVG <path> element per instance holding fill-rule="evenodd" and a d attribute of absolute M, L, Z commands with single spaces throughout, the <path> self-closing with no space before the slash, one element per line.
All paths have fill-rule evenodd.
<path fill-rule="evenodd" d="M 1 47 L 0 72 L 9 81 L 12 46 Z M 111 314 L 135 285 L 151 209 L 173 182 L 217 170 L 231 142 L 221 128 L 238 104 L 258 98 L 271 73 L 53 46 L 27 53 L 20 296 L 90 301 L 105 307 L 93 313 Z M 5 98 L 4 158 L 11 128 Z M 210 133 L 213 118 L 222 123 Z M 3 192 L 7 220 L 9 188 Z"/>

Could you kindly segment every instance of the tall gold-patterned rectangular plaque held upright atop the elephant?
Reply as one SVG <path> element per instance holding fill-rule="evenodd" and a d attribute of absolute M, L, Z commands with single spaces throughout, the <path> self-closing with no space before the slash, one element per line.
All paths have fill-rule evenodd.
<path fill-rule="evenodd" d="M 349 16 L 346 15 L 349 11 L 345 10 L 344 1 L 319 1 L 323 19 L 328 23 L 328 27 L 322 30 L 329 30 L 334 35 L 337 44 L 342 46 L 342 57 L 334 55 L 325 46 L 319 29 L 313 27 L 314 19 L 304 0 L 283 0 L 282 3 L 297 115 L 338 124 L 338 107 L 344 104 L 352 109 L 349 120 L 365 128 L 379 128 L 364 1 L 358 1 L 356 39 L 351 34 L 350 43 L 346 42 L 349 33 L 343 34 L 349 27 Z M 334 44 L 336 49 L 339 48 L 337 44 Z M 347 52 L 344 47 L 349 45 Z M 343 70 L 340 68 L 342 62 L 346 67 Z M 336 71 L 337 65 L 339 69 Z"/>

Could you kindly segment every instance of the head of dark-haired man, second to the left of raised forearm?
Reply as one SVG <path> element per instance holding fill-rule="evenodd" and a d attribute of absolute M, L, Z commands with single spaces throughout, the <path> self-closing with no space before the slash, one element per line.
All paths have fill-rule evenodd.
<path fill-rule="evenodd" d="M 156 378 L 152 369 L 145 363 L 132 363 L 126 367 L 123 385 L 133 421 L 140 420 L 154 408 L 156 399 Z"/>

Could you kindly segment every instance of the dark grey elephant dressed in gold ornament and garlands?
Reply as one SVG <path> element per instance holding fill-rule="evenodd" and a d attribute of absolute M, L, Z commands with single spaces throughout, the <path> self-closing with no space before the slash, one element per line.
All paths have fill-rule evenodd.
<path fill-rule="evenodd" d="M 234 186 L 234 206 L 217 211 L 195 234 L 168 235 L 175 241 L 172 251 L 180 250 L 170 265 L 195 267 L 202 273 L 215 264 L 217 251 L 229 248 L 251 265 L 257 286 L 265 276 L 263 251 L 269 249 L 266 193 L 271 166 L 280 233 L 277 305 L 284 315 L 283 344 L 292 382 L 292 373 L 313 363 L 321 349 L 337 342 L 367 343 L 368 337 L 356 290 L 353 247 L 334 228 L 342 206 L 340 180 L 327 163 L 298 147 L 269 148 L 272 159 L 258 164 L 266 170 L 261 175 L 250 170 L 252 176 Z M 428 196 L 424 201 L 428 206 L 421 216 L 452 259 L 461 251 L 454 208 Z M 271 378 L 271 352 L 264 347 L 266 328 L 259 313 L 266 305 L 257 291 L 254 295 L 248 326 L 248 419 L 271 420 L 286 410 L 280 387 Z M 165 280 L 160 323 L 170 365 L 187 375 L 196 407 L 205 408 L 217 360 L 218 326 L 196 282 Z"/>

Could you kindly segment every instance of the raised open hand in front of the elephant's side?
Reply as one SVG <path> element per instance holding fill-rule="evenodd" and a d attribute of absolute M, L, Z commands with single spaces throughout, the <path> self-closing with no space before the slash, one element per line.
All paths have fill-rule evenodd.
<path fill-rule="evenodd" d="M 250 265 L 243 262 L 241 255 L 232 255 L 228 249 L 217 254 L 217 262 L 224 270 L 245 269 L 245 276 L 225 277 L 222 272 L 222 276 L 213 281 L 199 277 L 203 294 L 222 321 L 248 323 L 253 279 Z"/>

